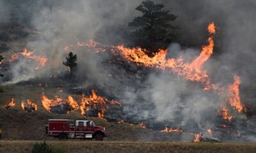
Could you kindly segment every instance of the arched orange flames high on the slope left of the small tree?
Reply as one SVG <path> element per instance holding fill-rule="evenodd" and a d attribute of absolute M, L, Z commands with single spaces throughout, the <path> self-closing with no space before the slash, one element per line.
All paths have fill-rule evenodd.
<path fill-rule="evenodd" d="M 41 57 L 38 55 L 33 55 L 34 52 L 28 51 L 27 48 L 24 48 L 22 50 L 22 52 L 17 53 L 17 54 L 13 54 L 12 57 L 10 57 L 9 62 L 13 62 L 16 61 L 17 59 L 19 59 L 19 55 L 22 55 L 24 57 L 26 57 L 29 60 L 35 60 L 36 62 L 38 62 L 38 65 L 36 66 L 35 69 L 39 69 L 45 66 L 46 62 L 47 62 L 47 58 L 46 57 Z"/>

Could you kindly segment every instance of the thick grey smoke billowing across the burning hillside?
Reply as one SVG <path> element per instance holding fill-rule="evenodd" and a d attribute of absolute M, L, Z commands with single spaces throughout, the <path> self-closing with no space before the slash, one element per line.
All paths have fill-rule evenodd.
<path fill-rule="evenodd" d="M 255 110 L 255 24 L 256 2 L 249 1 L 154 1 L 163 3 L 164 10 L 178 15 L 173 22 L 173 42 L 170 57 L 191 61 L 207 45 L 207 25 L 214 21 L 214 54 L 205 63 L 214 83 L 232 84 L 233 76 L 241 77 L 242 103 Z M 29 35 L 24 47 L 36 55 L 46 56 L 44 69 L 36 71 L 35 64 L 19 60 L 11 67 L 12 79 L 17 83 L 36 77 L 65 73 L 62 62 L 68 52 L 63 48 L 77 41 L 93 39 L 106 45 L 130 44 L 128 23 L 140 14 L 135 8 L 141 1 L 74 0 L 74 1 L 1 1 L 1 22 L 15 20 L 36 36 Z M 18 50 L 18 49 L 17 49 Z M 22 50 L 22 48 L 19 48 Z M 96 88 L 108 97 L 122 101 L 125 120 L 168 122 L 191 132 L 216 127 L 218 110 L 223 96 L 203 91 L 203 87 L 184 78 L 143 66 L 109 64 L 112 55 L 72 50 L 77 54 L 77 80 L 70 91 L 89 91 Z M 22 69 L 22 70 L 21 70 Z M 252 113 L 255 115 L 255 113 Z M 244 134 L 246 129 L 234 124 Z M 157 126 L 154 126 L 157 128 Z M 248 137 L 254 141 L 255 137 Z"/>

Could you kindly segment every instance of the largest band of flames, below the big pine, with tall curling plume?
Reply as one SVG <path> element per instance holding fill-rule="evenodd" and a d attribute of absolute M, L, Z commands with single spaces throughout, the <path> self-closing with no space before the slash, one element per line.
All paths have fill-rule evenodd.
<path fill-rule="evenodd" d="M 210 34 L 215 33 L 215 25 L 213 22 L 209 24 L 208 29 Z M 184 62 L 182 57 L 179 57 L 178 59 L 166 59 L 168 50 L 160 49 L 159 52 L 154 55 L 154 57 L 149 57 L 147 54 L 145 54 L 147 51 L 141 49 L 140 47 L 125 48 L 124 45 L 120 45 L 116 48 L 120 50 L 120 52 L 117 54 L 120 54 L 128 62 L 136 62 L 143 66 L 154 66 L 160 69 L 170 68 L 180 77 L 184 77 L 191 81 L 200 82 L 205 86 L 205 90 L 217 90 L 219 89 L 218 85 L 211 84 L 211 80 L 206 71 L 202 70 L 202 66 L 209 59 L 209 57 L 211 57 L 213 52 L 213 36 L 208 38 L 208 42 L 209 45 L 202 47 L 201 54 L 191 63 Z M 112 52 L 114 51 L 112 50 Z"/>

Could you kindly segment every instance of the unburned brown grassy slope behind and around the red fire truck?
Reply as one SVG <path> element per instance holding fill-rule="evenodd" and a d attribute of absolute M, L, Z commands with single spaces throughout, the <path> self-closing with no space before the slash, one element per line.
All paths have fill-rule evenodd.
<path fill-rule="evenodd" d="M 58 88 L 44 87 L 45 95 L 53 98 L 55 94 L 60 95 Z M 106 140 L 153 140 L 170 141 L 180 140 L 187 135 L 187 141 L 193 140 L 193 135 L 181 133 L 160 133 L 159 131 L 150 131 L 139 126 L 131 126 L 129 123 L 108 122 L 105 119 L 85 118 L 80 110 L 60 115 L 49 113 L 44 110 L 41 103 L 42 87 L 36 85 L 9 85 L 3 87 L 4 92 L 0 93 L 0 123 L 3 129 L 3 140 L 43 140 L 45 139 L 45 128 L 48 119 L 89 119 L 94 120 L 97 126 L 104 126 L 110 135 Z M 63 95 L 65 97 L 65 94 Z M 72 95 L 78 103 L 81 102 L 81 95 Z M 3 105 L 8 103 L 11 98 L 15 98 L 15 106 L 5 110 Z M 20 107 L 21 100 L 31 99 L 38 105 L 37 112 L 26 113 Z M 180 136 L 182 135 L 182 136 Z M 47 140 L 52 138 L 46 137 Z"/>

